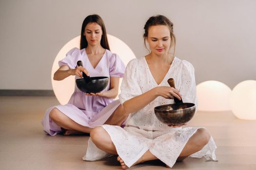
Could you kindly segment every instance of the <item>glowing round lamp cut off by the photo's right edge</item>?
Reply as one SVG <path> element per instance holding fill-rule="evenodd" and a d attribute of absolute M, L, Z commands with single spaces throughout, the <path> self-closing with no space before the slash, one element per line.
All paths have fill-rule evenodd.
<path fill-rule="evenodd" d="M 230 104 L 237 118 L 256 120 L 256 80 L 246 80 L 236 85 Z"/>

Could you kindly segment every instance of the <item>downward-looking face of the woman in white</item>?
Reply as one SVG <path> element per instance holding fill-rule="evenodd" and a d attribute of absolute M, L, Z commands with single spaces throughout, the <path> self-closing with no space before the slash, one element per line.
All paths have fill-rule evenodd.
<path fill-rule="evenodd" d="M 166 25 L 150 26 L 146 40 L 152 53 L 156 55 L 167 54 L 171 45 L 169 27 Z"/>

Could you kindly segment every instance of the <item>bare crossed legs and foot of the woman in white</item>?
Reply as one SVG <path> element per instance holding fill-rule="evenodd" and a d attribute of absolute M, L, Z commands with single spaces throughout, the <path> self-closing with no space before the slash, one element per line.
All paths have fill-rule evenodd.
<path fill-rule="evenodd" d="M 108 133 L 105 131 L 103 127 L 98 126 L 94 128 L 91 131 L 90 136 L 92 138 L 93 143 L 99 149 L 107 153 L 118 155 L 115 145 L 113 144 L 110 136 L 108 135 Z M 183 148 L 182 152 L 177 158 L 177 161 L 182 161 L 187 156 L 193 153 L 196 153 L 197 151 L 200 151 L 208 143 L 210 137 L 211 136 L 206 129 L 204 128 L 197 129 L 197 132 L 193 136 L 191 136 L 188 142 L 186 143 L 185 147 Z M 148 150 L 138 159 L 137 162 L 133 164 L 133 166 L 141 162 L 155 160 L 155 159 L 158 159 L 158 158 Z M 120 162 L 122 169 L 128 168 L 123 162 L 121 157 L 118 156 L 117 160 Z"/>

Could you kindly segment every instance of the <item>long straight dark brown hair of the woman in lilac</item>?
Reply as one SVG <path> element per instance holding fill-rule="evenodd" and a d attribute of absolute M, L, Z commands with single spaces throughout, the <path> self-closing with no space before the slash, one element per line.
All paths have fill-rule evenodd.
<path fill-rule="evenodd" d="M 97 23 L 101 27 L 101 30 L 102 30 L 102 36 L 101 36 L 101 40 L 100 40 L 101 47 L 103 47 L 104 49 L 110 50 L 109 45 L 108 45 L 107 32 L 106 32 L 104 22 L 103 22 L 102 18 L 96 14 L 87 16 L 83 20 L 82 29 L 81 29 L 80 50 L 84 49 L 88 46 L 88 42 L 84 35 L 84 30 L 88 23 L 93 23 L 93 22 Z"/>

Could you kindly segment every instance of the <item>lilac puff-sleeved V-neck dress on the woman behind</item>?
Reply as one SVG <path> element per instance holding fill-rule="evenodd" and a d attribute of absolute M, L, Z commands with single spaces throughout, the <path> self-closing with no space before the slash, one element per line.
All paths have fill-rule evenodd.
<path fill-rule="evenodd" d="M 91 77 L 105 76 L 105 77 L 123 77 L 125 65 L 117 54 L 106 50 L 96 68 L 91 65 L 85 49 L 79 50 L 74 48 L 69 51 L 64 59 L 59 61 L 59 67 L 67 65 L 74 69 L 77 67 L 77 62 L 81 60 L 83 67 L 86 68 Z M 76 79 L 79 79 L 76 76 Z M 110 88 L 110 81 L 103 91 Z M 49 117 L 52 109 L 57 108 L 60 112 L 68 116 L 70 119 L 86 127 L 96 127 L 102 125 L 119 106 L 119 100 L 100 97 L 87 96 L 75 86 L 75 91 L 72 94 L 69 102 L 65 105 L 56 105 L 46 110 L 44 118 L 42 119 L 43 130 L 51 136 L 55 136 L 62 132 L 54 121 Z M 106 107 L 107 106 L 107 107 Z"/>

